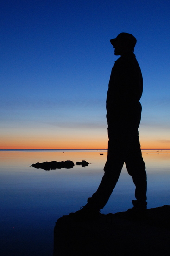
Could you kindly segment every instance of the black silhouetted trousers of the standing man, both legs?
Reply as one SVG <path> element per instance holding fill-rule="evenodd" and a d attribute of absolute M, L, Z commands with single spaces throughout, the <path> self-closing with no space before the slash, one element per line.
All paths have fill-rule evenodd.
<path fill-rule="evenodd" d="M 136 119 L 135 119 L 136 120 Z M 104 166 L 104 175 L 97 191 L 88 198 L 88 202 L 103 209 L 119 179 L 122 167 L 126 164 L 127 172 L 135 184 L 135 197 L 139 203 L 146 203 L 147 177 L 145 162 L 142 158 L 138 127 L 140 115 L 134 123 L 125 121 L 120 125 L 108 124 L 108 151 Z"/>

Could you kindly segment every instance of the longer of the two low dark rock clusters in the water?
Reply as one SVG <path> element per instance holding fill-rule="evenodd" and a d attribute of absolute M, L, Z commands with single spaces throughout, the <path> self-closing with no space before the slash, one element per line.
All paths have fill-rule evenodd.
<path fill-rule="evenodd" d="M 61 168 L 66 168 L 66 169 L 73 168 L 74 162 L 70 160 L 61 161 L 61 162 L 57 162 L 57 161 L 42 162 L 42 163 L 37 162 L 35 164 L 33 163 L 31 166 L 37 169 L 44 169 L 46 171 L 50 171 L 50 170 L 56 170 Z"/>

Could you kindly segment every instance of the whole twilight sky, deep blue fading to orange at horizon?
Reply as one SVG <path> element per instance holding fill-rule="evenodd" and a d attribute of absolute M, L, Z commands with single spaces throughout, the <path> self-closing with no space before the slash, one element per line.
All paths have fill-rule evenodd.
<path fill-rule="evenodd" d="M 110 39 L 137 38 L 142 149 L 170 149 L 169 0 L 0 1 L 0 148 L 107 148 Z"/>

